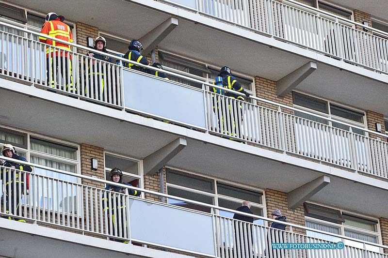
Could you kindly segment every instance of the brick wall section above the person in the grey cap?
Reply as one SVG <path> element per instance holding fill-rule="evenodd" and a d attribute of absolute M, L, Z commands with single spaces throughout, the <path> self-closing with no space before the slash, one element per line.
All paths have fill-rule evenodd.
<path fill-rule="evenodd" d="M 267 206 L 267 216 L 271 218 L 271 213 L 276 209 L 279 209 L 283 215 L 287 216 L 287 221 L 292 224 L 306 226 L 305 223 L 305 211 L 303 205 L 295 209 L 294 211 L 288 208 L 287 194 L 284 192 L 266 189 L 265 190 L 265 202 Z M 289 227 L 286 230 L 290 230 Z M 295 233 L 306 234 L 305 230 L 299 228 L 292 228 Z"/>

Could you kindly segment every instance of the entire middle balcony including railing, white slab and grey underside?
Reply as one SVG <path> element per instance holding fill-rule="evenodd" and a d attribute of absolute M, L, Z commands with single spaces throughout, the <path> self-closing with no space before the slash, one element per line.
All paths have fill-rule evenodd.
<path fill-rule="evenodd" d="M 0 71 L 0 101 L 7 107 L 0 117 L 2 124 L 146 160 L 150 164 L 146 174 L 154 173 L 163 161 L 162 165 L 287 193 L 330 175 L 331 183 L 313 200 L 357 211 L 362 198 L 367 206 L 362 209 L 388 216 L 384 206 L 374 204 L 376 197 L 385 203 L 388 190 L 387 143 L 366 136 L 376 132 L 358 128 L 365 132 L 359 135 L 302 119 L 290 114 L 294 108 L 255 97 L 288 112 L 213 96 L 206 90 L 212 85 L 202 81 L 195 81 L 203 84 L 198 89 L 73 51 L 68 52 L 74 67 L 73 89 L 61 76 L 55 77 L 51 88 L 46 84 L 46 46 L 5 32 L 2 39 L 1 47 L 8 53 L 2 56 Z M 65 68 L 69 63 L 60 65 Z M 101 76 L 94 80 L 85 76 L 92 66 L 105 69 L 104 90 Z M 159 154 L 164 158 L 154 162 Z M 357 195 L 335 198 L 354 183 Z"/>

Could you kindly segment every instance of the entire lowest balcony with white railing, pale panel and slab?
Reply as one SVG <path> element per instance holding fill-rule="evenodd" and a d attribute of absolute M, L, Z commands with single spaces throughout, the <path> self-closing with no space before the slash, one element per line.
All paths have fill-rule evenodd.
<path fill-rule="evenodd" d="M 9 158 L 4 159 L 12 161 Z M 193 211 L 166 204 L 164 201 L 150 201 L 84 185 L 81 180 L 124 186 L 119 183 L 31 163 L 22 163 L 32 166 L 32 172 L 20 173 L 20 170 L 0 166 L 1 190 L 10 191 L 11 187 L 18 187 L 19 192 L 24 193 L 17 197 L 10 195 L 7 200 L 4 199 L 0 203 L 0 214 L 6 214 L 4 212 L 7 207 L 6 201 L 19 203 L 20 209 L 11 216 L 14 219 L 27 221 L 27 224 L 24 224 L 9 219 L 0 219 L 0 231 L 2 232 L 0 239 L 5 243 L 0 247 L 2 256 L 37 258 L 56 250 L 58 257 L 65 257 L 62 254 L 68 256 L 67 252 L 74 257 L 84 257 L 85 252 L 88 252 L 89 255 L 106 254 L 110 257 L 182 257 L 174 254 L 174 251 L 183 252 L 189 256 L 201 255 L 216 258 L 259 258 L 264 255 L 267 258 L 311 258 L 327 255 L 333 258 L 387 257 L 380 252 L 382 248 L 387 248 L 384 245 L 290 223 L 284 223 L 288 226 L 287 230 L 269 228 L 266 225 L 275 220 L 257 215 L 252 215 L 252 217 L 255 221 L 259 221 L 259 224 L 246 223 L 219 215 L 219 211 L 244 214 L 243 212 L 129 187 L 162 197 L 162 199 L 173 198 L 211 210 L 210 213 Z M 43 172 L 50 172 L 58 176 L 47 176 L 47 173 Z M 25 194 L 26 184 L 6 184 L 6 178 L 15 177 L 16 173 L 24 182 L 29 178 L 28 195 Z M 60 179 L 62 178 L 60 175 L 71 176 L 75 180 Z M 67 205 L 64 205 L 65 203 Z M 69 207 L 74 208 L 69 209 Z M 110 207 L 110 209 L 104 209 L 105 207 Z M 68 232 L 61 232 L 62 230 Z M 344 245 L 340 246 L 338 243 L 295 233 L 295 231 L 304 230 L 336 237 Z M 20 242 L 16 239 L 23 240 L 25 248 L 18 248 Z M 117 243 L 117 241 L 114 243 L 113 239 L 121 242 L 128 241 L 129 244 Z M 40 248 L 36 248 L 37 243 Z M 134 246 L 133 243 L 141 246 L 146 244 L 151 247 L 167 248 L 173 253 L 168 253 L 168 255 L 165 253 L 163 256 L 163 251 L 148 249 L 145 246 Z M 322 243 L 327 245 L 326 249 L 302 252 L 303 248 L 298 251 L 273 249 L 272 243 Z M 327 249 L 329 245 L 332 247 Z M 380 251 L 370 251 L 371 247 Z"/>

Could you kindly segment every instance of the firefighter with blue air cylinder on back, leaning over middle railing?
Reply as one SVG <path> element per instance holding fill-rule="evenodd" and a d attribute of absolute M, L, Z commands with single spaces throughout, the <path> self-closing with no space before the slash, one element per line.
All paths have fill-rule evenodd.
<path fill-rule="evenodd" d="M 240 82 L 234 76 L 231 75 L 230 68 L 227 67 L 227 66 L 224 66 L 224 67 L 222 67 L 220 69 L 220 73 L 216 77 L 216 80 L 215 80 L 214 84 L 216 84 L 216 85 L 218 85 L 220 87 L 224 87 L 224 88 L 226 88 L 228 90 L 234 90 L 234 91 L 241 92 L 241 93 L 245 94 L 246 97 L 249 97 L 249 93 L 247 91 L 245 91 L 242 88 Z M 220 90 L 220 89 L 215 88 L 215 87 L 213 87 L 212 90 L 213 90 L 214 93 L 225 95 L 226 97 L 229 97 L 229 98 L 232 98 L 232 99 L 238 99 L 238 100 L 245 101 L 243 96 L 238 95 L 236 93 L 229 92 L 229 91 L 223 91 L 223 90 Z M 236 124 L 237 124 L 238 131 L 241 134 L 240 123 L 242 121 L 242 106 L 239 105 L 240 110 L 241 110 L 241 112 L 240 112 L 241 113 L 241 119 L 238 119 L 237 118 L 237 115 L 238 115 L 237 109 L 236 109 L 237 113 L 234 113 L 234 106 L 232 105 L 232 102 L 229 102 L 230 104 L 228 104 L 229 114 L 233 113 L 233 117 L 234 117 L 234 120 L 232 120 L 232 116 L 230 115 L 230 127 L 233 126 L 234 131 L 235 131 L 234 135 L 232 135 L 232 131 L 230 130 L 231 128 L 228 128 L 229 126 L 228 126 L 227 122 L 224 121 L 223 114 L 224 114 L 225 110 L 223 109 L 223 105 L 220 105 L 221 103 L 218 103 L 218 98 L 217 98 L 217 100 L 215 100 L 214 98 L 216 98 L 216 96 L 213 94 L 213 109 L 214 109 L 214 112 L 218 112 L 219 110 L 221 111 L 220 112 L 221 113 L 221 118 L 219 118 L 219 121 L 218 121 L 220 129 L 222 130 L 223 133 L 226 133 L 227 135 L 238 137 L 237 130 L 236 130 Z M 217 105 L 217 110 L 216 110 L 216 105 Z M 221 106 L 221 108 L 220 108 L 220 106 Z M 226 128 L 226 132 L 225 132 L 225 128 Z M 234 138 L 230 138 L 230 139 L 234 140 Z"/>

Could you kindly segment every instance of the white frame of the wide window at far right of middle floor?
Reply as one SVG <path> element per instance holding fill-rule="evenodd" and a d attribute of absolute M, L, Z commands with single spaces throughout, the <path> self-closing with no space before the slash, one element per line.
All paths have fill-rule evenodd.
<path fill-rule="evenodd" d="M 364 110 L 360 110 L 360 109 L 357 109 L 357 108 L 352 107 L 352 106 L 346 106 L 346 105 L 340 104 L 338 102 L 331 101 L 331 100 L 328 100 L 328 99 L 325 99 L 325 98 L 322 98 L 322 97 L 319 97 L 319 96 L 316 96 L 316 95 L 312 95 L 312 94 L 309 94 L 309 93 L 306 93 L 306 92 L 303 92 L 303 91 L 294 91 L 294 92 L 300 93 L 300 94 L 309 96 L 311 98 L 315 98 L 315 99 L 318 99 L 318 100 L 326 102 L 327 103 L 327 108 L 328 108 L 328 110 L 327 110 L 328 113 L 326 114 L 326 113 L 323 113 L 321 111 L 310 109 L 308 107 L 298 106 L 296 104 L 293 104 L 293 106 L 295 108 L 298 108 L 298 109 L 301 109 L 301 110 L 304 110 L 304 111 L 307 111 L 307 112 L 310 112 L 310 113 L 313 113 L 313 114 L 317 114 L 317 115 L 320 115 L 320 116 L 323 116 L 323 117 L 327 117 L 329 119 L 333 119 L 333 120 L 337 120 L 337 121 L 341 121 L 341 122 L 346 122 L 346 123 L 349 123 L 351 125 L 354 125 L 354 126 L 357 126 L 357 127 L 361 127 L 361 128 L 364 128 L 364 129 L 368 128 L 367 117 L 366 117 L 366 114 L 365 114 Z M 331 114 L 331 110 L 330 110 L 330 104 L 333 104 L 335 106 L 341 106 L 341 107 L 344 107 L 344 108 L 347 108 L 347 109 L 354 110 L 356 112 L 363 113 L 364 114 L 364 116 L 363 116 L 363 123 L 360 123 L 360 122 L 357 122 L 357 121 L 353 121 L 353 120 L 349 120 L 349 119 L 346 119 L 346 118 L 342 118 L 342 117 L 339 117 L 339 116 L 332 115 Z M 332 121 L 328 121 L 328 122 L 329 122 L 328 125 L 332 126 Z M 367 136 L 367 137 L 369 136 L 368 132 L 366 132 L 365 136 Z"/>

